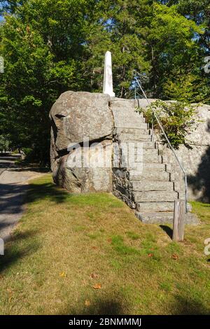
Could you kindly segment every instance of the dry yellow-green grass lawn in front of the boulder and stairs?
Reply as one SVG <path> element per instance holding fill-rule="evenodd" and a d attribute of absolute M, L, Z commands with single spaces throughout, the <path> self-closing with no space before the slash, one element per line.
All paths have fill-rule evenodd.
<path fill-rule="evenodd" d="M 210 204 L 193 209 L 202 225 L 176 244 L 111 194 L 31 181 L 0 256 L 0 314 L 210 314 Z"/>

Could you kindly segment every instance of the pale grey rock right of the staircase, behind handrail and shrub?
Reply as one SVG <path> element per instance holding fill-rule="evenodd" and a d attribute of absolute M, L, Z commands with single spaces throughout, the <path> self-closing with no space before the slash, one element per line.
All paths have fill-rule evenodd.
<path fill-rule="evenodd" d="M 155 99 L 150 99 L 150 102 L 154 101 Z M 139 100 L 138 106 L 146 105 L 145 99 Z M 197 118 L 197 127 L 188 136 L 190 149 L 180 146 L 176 154 L 188 174 L 188 199 L 210 202 L 210 106 L 197 106 Z M 175 187 L 184 193 L 183 172 L 172 151 L 160 142 L 158 132 L 155 135 L 158 148 L 162 150 L 163 160 L 172 167 Z"/>

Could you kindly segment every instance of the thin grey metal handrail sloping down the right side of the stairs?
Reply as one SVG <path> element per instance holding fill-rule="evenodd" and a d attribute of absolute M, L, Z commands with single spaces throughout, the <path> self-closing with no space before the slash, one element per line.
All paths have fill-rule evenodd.
<path fill-rule="evenodd" d="M 141 89 L 141 92 L 144 94 L 144 97 L 146 99 L 146 101 L 148 102 L 148 105 L 150 106 L 152 112 L 153 112 L 153 117 L 155 117 L 159 127 L 160 127 L 160 130 L 162 131 L 162 134 L 164 135 L 165 139 L 167 140 L 167 144 L 169 145 L 169 148 L 171 148 L 172 150 L 172 153 L 174 154 L 177 162 L 179 163 L 179 167 L 181 167 L 181 170 L 184 174 L 184 180 L 185 180 L 185 202 L 186 202 L 186 213 L 188 213 L 188 176 L 186 174 L 186 170 L 183 168 L 183 165 L 181 165 L 181 162 L 178 158 L 178 156 L 176 155 L 176 152 L 174 151 L 174 148 L 172 146 L 172 144 L 170 143 L 168 137 L 167 137 L 167 134 L 165 133 L 165 130 L 163 129 L 161 123 L 160 123 L 160 119 L 158 118 L 158 115 L 155 113 L 155 110 L 153 109 L 153 106 L 151 106 L 151 103 L 148 101 L 148 98 L 146 97 L 146 94 L 144 92 L 144 89 L 142 88 L 141 86 L 141 83 L 139 83 L 139 80 L 134 77 L 134 79 L 137 81 L 137 84 L 139 85 L 140 89 Z M 137 99 L 136 96 L 137 95 L 137 92 L 135 91 L 135 99 Z M 153 141 L 153 134 L 154 134 L 154 127 L 152 127 L 152 141 Z"/>

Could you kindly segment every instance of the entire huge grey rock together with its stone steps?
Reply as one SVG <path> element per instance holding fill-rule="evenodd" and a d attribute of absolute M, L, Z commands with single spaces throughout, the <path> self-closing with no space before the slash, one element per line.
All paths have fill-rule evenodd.
<path fill-rule="evenodd" d="M 64 92 L 50 111 L 52 176 L 71 193 L 113 192 L 145 223 L 172 223 L 174 200 L 185 199 L 183 176 L 158 133 L 151 140 L 143 114 L 136 111 L 146 105 L 146 100 Z M 209 113 L 210 106 L 198 107 L 192 149 L 177 151 L 188 174 L 188 200 L 210 201 Z M 197 218 L 188 214 L 186 223 Z"/>

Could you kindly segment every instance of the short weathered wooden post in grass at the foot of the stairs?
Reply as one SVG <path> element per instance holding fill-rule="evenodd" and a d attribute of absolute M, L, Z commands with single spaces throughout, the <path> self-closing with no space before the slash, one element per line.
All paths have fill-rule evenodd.
<path fill-rule="evenodd" d="M 175 200 L 174 202 L 174 227 L 173 241 L 183 241 L 185 229 L 185 212 L 186 204 L 183 200 Z"/>

